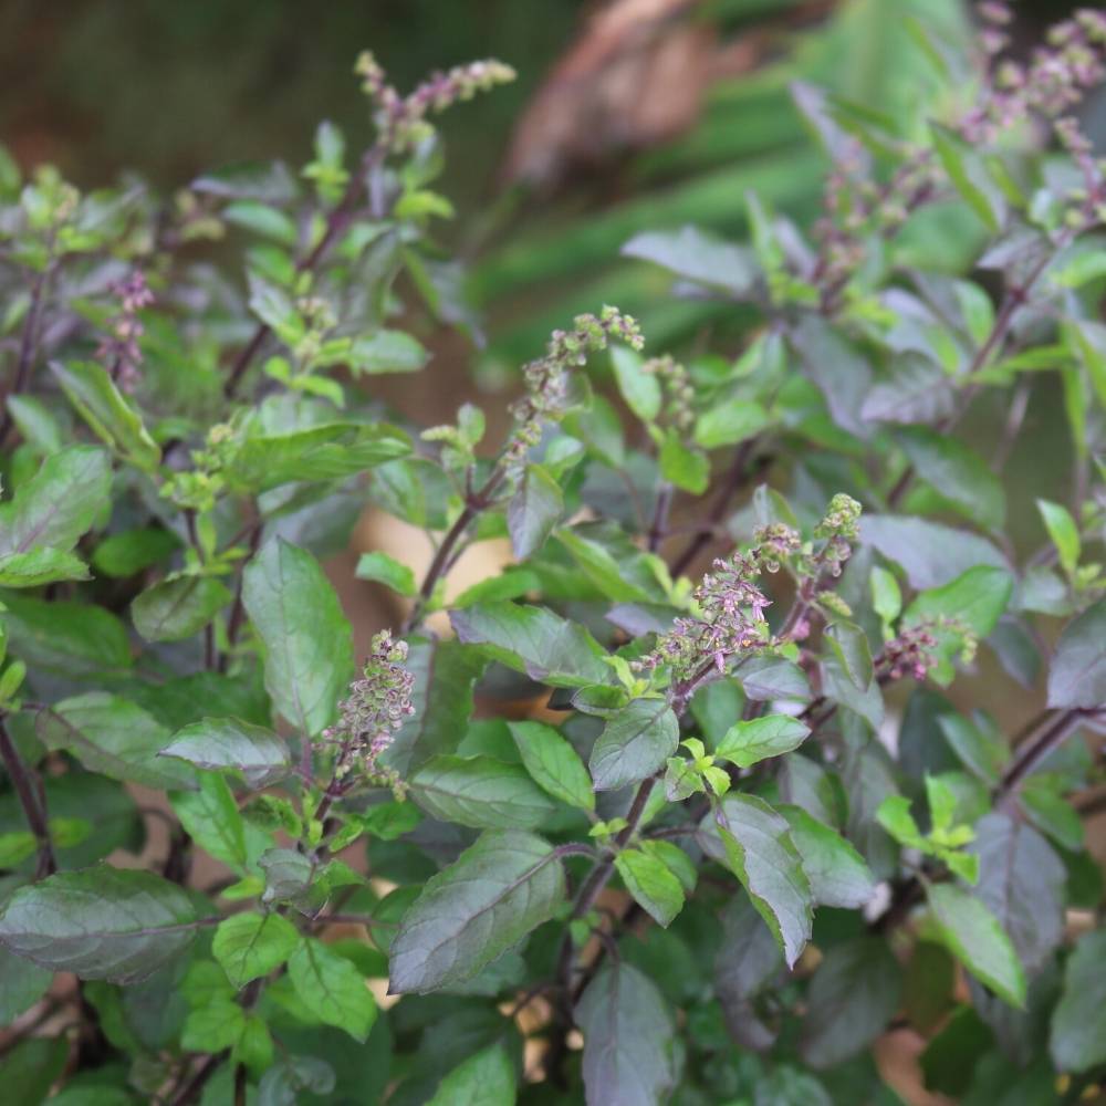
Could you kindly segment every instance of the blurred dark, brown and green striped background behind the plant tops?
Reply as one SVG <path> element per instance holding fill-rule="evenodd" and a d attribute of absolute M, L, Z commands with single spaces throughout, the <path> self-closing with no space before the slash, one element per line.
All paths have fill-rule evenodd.
<path fill-rule="evenodd" d="M 1072 7 L 1024 2 L 1030 43 Z M 931 86 L 911 22 L 956 54 L 963 0 L 0 0 L 0 134 L 30 166 L 82 187 L 138 168 L 160 189 L 225 163 L 305 155 L 330 118 L 367 132 L 351 65 L 376 52 L 400 87 L 498 56 L 518 82 L 451 115 L 442 238 L 470 267 L 489 323 L 488 385 L 566 317 L 602 302 L 655 346 L 738 338 L 740 312 L 674 300 L 622 260 L 641 230 L 740 234 L 755 190 L 801 223 L 825 160 L 796 109 L 806 81 L 902 119 Z M 948 216 L 948 212 L 945 212 Z M 970 233 L 912 241 L 962 264 Z M 943 230 L 945 233 L 935 233 Z"/>

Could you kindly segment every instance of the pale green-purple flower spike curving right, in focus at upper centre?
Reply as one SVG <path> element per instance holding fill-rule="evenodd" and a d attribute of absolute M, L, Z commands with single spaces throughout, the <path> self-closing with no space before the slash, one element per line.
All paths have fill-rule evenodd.
<path fill-rule="evenodd" d="M 645 344 L 637 321 L 607 306 L 598 316 L 577 315 L 571 331 L 554 331 L 545 356 L 525 366 L 526 394 L 511 407 L 518 425 L 503 453 L 508 471 L 518 469 L 526 452 L 541 441 L 542 426 L 564 414 L 572 369 L 586 364 L 589 353 L 605 349 L 613 340 L 634 349 Z"/>

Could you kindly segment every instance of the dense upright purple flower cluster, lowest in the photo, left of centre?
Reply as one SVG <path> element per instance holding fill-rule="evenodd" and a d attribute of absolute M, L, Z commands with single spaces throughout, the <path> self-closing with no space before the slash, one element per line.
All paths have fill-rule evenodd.
<path fill-rule="evenodd" d="M 388 630 L 373 638 L 362 678 L 349 685 L 349 693 L 338 705 L 337 721 L 323 730 L 323 739 L 338 747 L 337 780 L 359 768 L 373 782 L 401 787 L 396 773 L 378 761 L 395 731 L 415 713 L 415 676 L 405 667 L 406 660 L 406 641 L 393 640 Z"/>

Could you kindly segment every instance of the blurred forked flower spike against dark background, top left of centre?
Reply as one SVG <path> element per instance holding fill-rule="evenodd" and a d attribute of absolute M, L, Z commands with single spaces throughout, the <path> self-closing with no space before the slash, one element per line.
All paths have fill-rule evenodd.
<path fill-rule="evenodd" d="M 502 62 L 471 62 L 456 65 L 448 73 L 435 73 L 413 93 L 400 96 L 369 51 L 357 59 L 354 72 L 362 79 L 362 91 L 376 105 L 379 143 L 389 154 L 405 154 L 430 137 L 434 126 L 427 115 L 431 112 L 471 100 L 478 92 L 508 84 L 515 76 L 514 70 Z"/>

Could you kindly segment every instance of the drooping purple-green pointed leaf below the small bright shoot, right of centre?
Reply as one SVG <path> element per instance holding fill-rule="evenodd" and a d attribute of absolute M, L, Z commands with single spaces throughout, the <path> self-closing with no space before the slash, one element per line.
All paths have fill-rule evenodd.
<path fill-rule="evenodd" d="M 731 792 L 703 820 L 702 837 L 741 880 L 793 967 L 811 939 L 814 899 L 786 818 L 762 799 Z"/>

